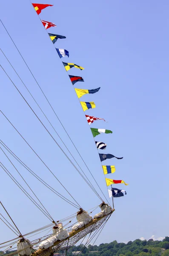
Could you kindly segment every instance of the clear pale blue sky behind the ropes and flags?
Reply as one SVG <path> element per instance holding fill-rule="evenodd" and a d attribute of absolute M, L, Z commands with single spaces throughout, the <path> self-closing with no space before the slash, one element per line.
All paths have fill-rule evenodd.
<path fill-rule="evenodd" d="M 107 121 L 95 121 L 91 127 L 113 131 L 95 138 L 107 144 L 104 153 L 123 157 L 123 160 L 113 158 L 102 162 L 116 167 L 116 172 L 107 177 L 122 179 L 129 186 L 116 186 L 126 189 L 127 195 L 115 198 L 115 212 L 97 239 L 97 244 L 113 240 L 127 242 L 141 237 L 149 239 L 152 236 L 158 239 L 169 235 L 169 2 L 41 0 L 40 3 L 54 4 L 39 15 L 41 19 L 57 25 L 47 32 L 65 35 L 66 39 L 58 39 L 52 44 L 29 0 L 2 1 L 0 17 L 107 198 L 98 151 L 61 61 L 85 68 L 69 71 L 70 75 L 82 76 L 85 81 L 76 83 L 77 88 L 101 87 L 98 93 L 81 98 L 96 104 L 95 109 L 85 113 Z M 0 38 L 1 49 L 95 185 L 2 24 Z M 60 59 L 54 47 L 67 49 L 69 58 Z M 2 53 L 0 63 L 64 148 Z M 0 96 L 0 109 L 83 209 L 100 204 L 99 198 L 47 134 L 2 69 Z M 34 172 L 72 200 L 2 114 L 0 123 L 0 139 Z M 0 159 L 24 185 L 2 152 Z M 14 161 L 14 164 L 54 219 L 59 220 L 77 211 L 49 192 L 19 163 Z M 22 233 L 49 224 L 49 220 L 2 169 L 0 201 Z M 0 213 L 5 216 L 2 208 Z M 0 230 L 0 241 L 14 238 L 2 222 Z"/>

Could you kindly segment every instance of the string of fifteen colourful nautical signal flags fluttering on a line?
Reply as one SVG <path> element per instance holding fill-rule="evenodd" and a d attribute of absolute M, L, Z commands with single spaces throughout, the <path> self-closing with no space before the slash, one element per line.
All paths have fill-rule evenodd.
<path fill-rule="evenodd" d="M 32 3 L 35 11 L 37 12 L 37 15 L 39 15 L 41 13 L 41 11 L 43 9 L 45 9 L 46 7 L 49 7 L 49 6 L 53 6 L 51 4 L 41 4 L 41 3 Z M 46 21 L 46 20 L 41 20 L 42 23 L 43 23 L 43 26 L 45 27 L 45 29 L 49 29 L 50 27 L 56 27 L 56 25 L 52 22 L 49 22 L 49 21 Z M 57 39 L 64 39 L 66 38 L 66 36 L 63 36 L 63 35 L 56 35 L 56 34 L 51 34 L 51 33 L 48 33 L 50 39 L 52 40 L 53 44 L 56 43 Z M 58 49 L 58 48 L 55 48 L 59 57 L 60 58 L 63 58 L 63 57 L 68 57 L 69 58 L 69 52 L 66 50 L 66 49 Z M 80 70 L 83 70 L 84 68 L 77 65 L 77 64 L 74 64 L 74 63 L 67 63 L 67 62 L 62 62 L 63 63 L 63 66 L 65 67 L 66 71 L 68 72 L 72 67 L 76 67 Z M 83 78 L 81 76 L 72 76 L 72 75 L 69 75 L 69 79 L 71 80 L 72 82 L 72 85 L 74 87 L 74 84 L 76 84 L 78 81 L 79 82 L 84 82 Z M 80 101 L 80 98 L 85 95 L 85 94 L 94 94 L 94 93 L 97 93 L 99 90 L 100 90 L 100 87 L 98 88 L 95 88 L 95 89 L 78 89 L 78 88 L 74 88 L 76 94 L 77 94 L 77 97 L 79 99 L 79 102 L 81 104 L 81 107 L 83 108 L 83 111 L 86 111 L 90 108 L 95 108 L 96 105 L 94 102 L 83 102 L 83 101 Z M 96 120 L 103 120 L 105 121 L 105 119 L 103 118 L 98 118 L 98 117 L 95 117 L 95 116 L 89 116 L 89 115 L 85 115 L 86 116 L 86 119 L 87 119 L 87 122 L 89 125 L 91 125 L 94 121 Z M 105 121 L 106 122 L 106 121 Z M 100 129 L 100 128 L 90 128 L 91 129 L 91 132 L 92 132 L 92 135 L 93 137 L 95 138 L 97 135 L 101 134 L 101 133 L 105 133 L 105 134 L 112 134 L 112 131 L 110 130 L 106 130 L 106 129 Z M 104 150 L 106 149 L 106 146 L 107 144 L 106 143 L 103 143 L 103 142 L 99 142 L 99 141 L 95 141 L 95 144 L 96 144 L 96 147 L 97 147 L 97 150 Z M 111 159 L 113 157 L 115 157 L 113 154 L 99 154 L 99 157 L 100 157 L 100 162 L 103 162 L 105 161 L 106 159 Z M 123 159 L 123 157 L 115 157 L 116 159 Z M 103 168 L 103 173 L 104 175 L 107 175 L 107 174 L 112 174 L 115 172 L 115 166 L 103 166 L 102 165 L 102 168 Z M 106 180 L 106 185 L 107 186 L 110 186 L 111 185 L 111 189 L 108 189 L 108 193 L 109 193 L 109 197 L 115 197 L 115 198 L 118 198 L 118 197 L 121 197 L 121 196 L 124 196 L 124 193 L 126 195 L 126 191 L 125 190 L 121 190 L 121 189 L 117 189 L 117 188 L 112 188 L 112 184 L 119 184 L 119 183 L 124 183 L 125 185 L 128 185 L 127 183 L 124 182 L 124 180 L 114 180 L 114 179 L 109 179 L 109 178 L 106 178 L 105 176 L 105 180 Z"/>

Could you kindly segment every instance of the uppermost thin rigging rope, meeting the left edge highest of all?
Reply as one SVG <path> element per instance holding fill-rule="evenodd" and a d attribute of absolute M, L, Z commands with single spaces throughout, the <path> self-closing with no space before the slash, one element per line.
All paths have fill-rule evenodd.
<path fill-rule="evenodd" d="M 1 20 L 1 19 L 0 19 L 0 21 L 1 21 L 1 23 L 3 24 L 3 22 L 2 22 L 2 20 Z M 5 27 L 5 25 L 4 25 L 4 24 L 3 24 L 3 27 L 5 28 L 6 32 L 7 32 L 7 33 L 8 33 L 8 35 L 9 35 L 9 37 L 11 38 L 11 36 L 10 36 L 10 34 L 9 34 L 8 30 L 6 29 L 6 27 Z M 21 58 L 23 59 L 23 61 L 24 61 L 24 62 L 25 62 L 25 64 L 26 64 L 26 66 L 28 67 L 28 69 L 29 69 L 30 73 L 32 74 L 32 76 L 33 76 L 34 80 L 36 81 L 36 83 L 37 83 L 38 87 L 39 87 L 39 88 L 40 88 L 40 90 L 42 91 L 42 93 L 43 93 L 44 97 L 46 98 L 47 102 L 49 103 L 50 107 L 52 108 L 52 111 L 54 112 L 54 114 L 55 114 L 55 116 L 57 117 L 58 121 L 59 121 L 59 122 L 60 122 L 60 124 L 62 125 L 62 127 L 63 127 L 64 131 L 65 131 L 65 132 L 66 132 L 66 134 L 67 134 L 67 136 L 69 137 L 69 139 L 71 140 L 72 144 L 74 145 L 74 143 L 73 143 L 73 141 L 72 141 L 71 137 L 69 136 L 69 134 L 67 133 L 66 129 L 64 128 L 64 126 L 63 126 L 62 122 L 60 121 L 59 117 L 57 116 L 56 112 L 54 111 L 54 108 L 53 108 L 53 107 L 52 107 L 52 105 L 50 104 L 50 102 L 49 102 L 49 100 L 47 99 L 47 97 L 46 97 L 45 93 L 43 92 L 43 90 L 42 90 L 42 88 L 40 87 L 39 83 L 38 83 L 38 82 L 37 82 L 37 80 L 35 79 L 35 77 L 34 77 L 34 75 L 33 75 L 32 71 L 30 70 L 29 66 L 27 65 L 26 61 L 24 60 L 24 58 L 23 58 L 22 54 L 20 53 L 19 49 L 17 48 L 17 46 L 16 46 L 16 44 L 14 43 L 14 41 L 13 41 L 13 39 L 12 39 L 12 38 L 11 38 L 11 41 L 13 42 L 13 44 L 14 44 L 14 46 L 16 47 L 17 51 L 19 52 L 19 54 L 20 54 Z M 76 149 L 77 153 L 79 154 L 79 156 L 80 156 L 80 157 L 81 157 L 81 159 L 83 160 L 83 158 L 82 158 L 82 156 L 81 156 L 80 152 L 77 150 L 77 148 L 76 148 L 76 146 L 75 146 L 75 145 L 74 145 L 74 148 Z M 84 161 L 84 160 L 83 160 L 83 163 L 85 164 L 86 168 L 88 169 L 88 171 L 89 171 L 89 172 L 90 172 L 90 174 L 92 175 L 92 172 L 89 170 L 89 168 L 88 168 L 88 166 L 86 165 L 86 163 L 85 163 L 85 161 Z M 86 175 L 85 175 L 85 176 L 86 176 Z M 93 175 L 92 175 L 92 177 L 93 177 L 93 179 L 95 180 L 95 177 L 94 177 Z M 97 181 L 96 181 L 96 180 L 95 180 L 95 182 L 96 182 L 97 186 L 99 187 L 100 191 L 102 192 L 103 196 L 106 198 L 106 196 L 104 195 L 103 191 L 101 190 L 101 188 L 100 188 L 100 186 L 98 185 L 98 183 L 97 183 Z M 100 197 L 100 196 L 99 196 L 99 197 Z M 101 199 L 101 201 L 103 201 L 103 199 Z M 107 198 L 106 198 L 106 201 L 107 201 Z M 107 201 L 107 202 L 108 202 L 108 201 Z M 108 202 L 108 204 L 109 204 L 109 202 Z"/>

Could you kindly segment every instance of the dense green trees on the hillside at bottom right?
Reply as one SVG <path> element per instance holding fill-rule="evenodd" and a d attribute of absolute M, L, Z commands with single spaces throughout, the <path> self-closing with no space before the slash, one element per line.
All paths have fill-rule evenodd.
<path fill-rule="evenodd" d="M 163 241 L 153 241 L 153 239 L 141 241 L 136 239 L 128 243 L 117 243 L 115 240 L 109 244 L 98 246 L 89 244 L 86 249 L 81 244 L 69 249 L 67 256 L 73 256 L 72 251 L 76 250 L 83 250 L 80 256 L 169 256 L 169 236 L 166 236 Z"/>

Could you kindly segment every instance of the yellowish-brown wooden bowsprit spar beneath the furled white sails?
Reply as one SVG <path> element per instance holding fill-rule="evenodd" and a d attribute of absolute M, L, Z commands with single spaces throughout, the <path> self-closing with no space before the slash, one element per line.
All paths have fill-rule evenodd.
<path fill-rule="evenodd" d="M 113 211 L 112 211 L 112 212 L 113 212 Z M 66 240 L 70 239 L 72 236 L 78 234 L 80 231 L 84 230 L 86 227 L 90 227 L 92 224 L 97 223 L 97 221 L 100 221 L 100 220 L 101 220 L 102 218 L 104 218 L 104 217 L 105 217 L 105 215 L 102 216 L 102 217 L 93 219 L 93 220 L 90 221 L 88 224 L 86 224 L 85 226 L 79 228 L 78 230 L 73 230 L 73 231 L 71 231 L 71 232 L 69 233 L 69 237 L 67 237 L 66 239 L 63 239 L 62 241 L 58 241 L 58 240 L 57 240 L 57 241 L 56 241 L 52 246 L 50 246 L 49 248 L 47 248 L 47 249 L 39 249 L 39 250 L 37 250 L 36 252 L 32 253 L 30 256 L 37 256 L 37 255 L 40 255 L 41 253 L 44 253 L 46 250 L 49 250 L 50 248 L 56 246 L 57 244 L 60 244 L 60 243 L 62 243 L 63 241 L 66 241 Z"/>

